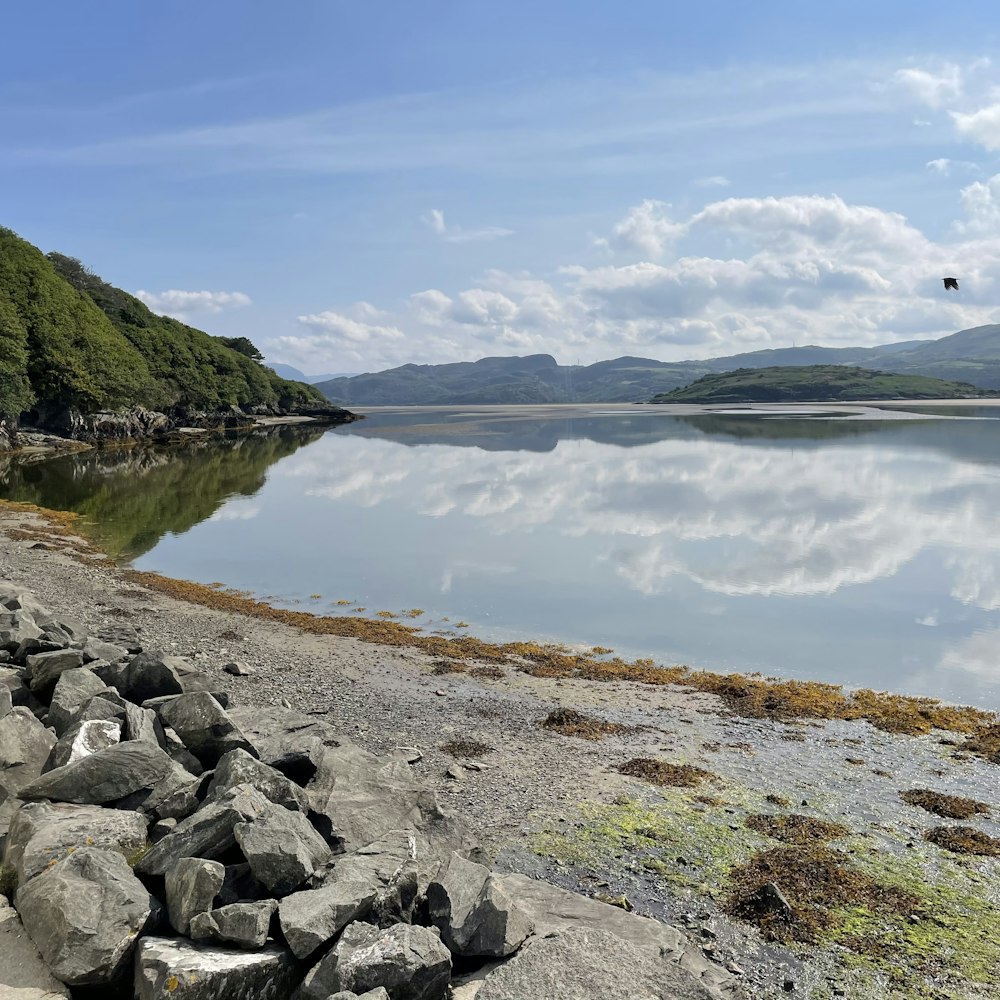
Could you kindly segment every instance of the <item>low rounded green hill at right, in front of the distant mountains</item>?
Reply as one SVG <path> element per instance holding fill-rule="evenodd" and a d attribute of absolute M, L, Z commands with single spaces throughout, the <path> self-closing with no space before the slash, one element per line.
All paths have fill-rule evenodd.
<path fill-rule="evenodd" d="M 798 403 L 859 399 L 969 399 L 995 396 L 966 382 L 897 375 L 844 365 L 739 368 L 705 375 L 653 403 Z"/>

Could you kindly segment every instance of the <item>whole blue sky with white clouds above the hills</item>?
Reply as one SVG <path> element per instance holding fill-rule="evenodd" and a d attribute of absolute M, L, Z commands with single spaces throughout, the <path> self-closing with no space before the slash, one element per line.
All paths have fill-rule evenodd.
<path fill-rule="evenodd" d="M 913 0 L 13 5 L 0 224 L 310 371 L 939 336 L 1000 321 L 998 30 Z"/>

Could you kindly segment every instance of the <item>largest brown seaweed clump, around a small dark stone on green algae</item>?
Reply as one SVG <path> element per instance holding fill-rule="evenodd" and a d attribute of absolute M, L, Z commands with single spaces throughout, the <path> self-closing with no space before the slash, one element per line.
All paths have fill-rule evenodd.
<path fill-rule="evenodd" d="M 730 879 L 726 912 L 784 944 L 814 944 L 837 930 L 844 920 L 839 910 L 909 916 L 922 909 L 919 897 L 883 885 L 824 845 L 762 851 L 732 869 Z"/>

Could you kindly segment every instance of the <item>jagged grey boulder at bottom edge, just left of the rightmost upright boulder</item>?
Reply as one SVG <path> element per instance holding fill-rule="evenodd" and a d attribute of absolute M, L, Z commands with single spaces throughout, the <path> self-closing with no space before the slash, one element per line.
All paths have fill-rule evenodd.
<path fill-rule="evenodd" d="M 354 923 L 310 969 L 299 996 L 328 1000 L 338 991 L 365 993 L 381 986 L 392 1000 L 444 1000 L 450 978 L 451 955 L 435 931 L 409 924 L 380 930 Z M 532 994 L 519 1000 L 528 997 Z"/>

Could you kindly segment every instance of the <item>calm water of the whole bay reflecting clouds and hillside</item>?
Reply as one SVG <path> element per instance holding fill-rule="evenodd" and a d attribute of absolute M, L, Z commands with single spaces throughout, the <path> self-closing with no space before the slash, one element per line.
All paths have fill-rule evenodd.
<path fill-rule="evenodd" d="M 554 413 L 10 464 L 0 495 L 289 606 L 1000 707 L 995 420 Z"/>

